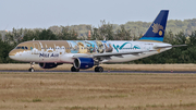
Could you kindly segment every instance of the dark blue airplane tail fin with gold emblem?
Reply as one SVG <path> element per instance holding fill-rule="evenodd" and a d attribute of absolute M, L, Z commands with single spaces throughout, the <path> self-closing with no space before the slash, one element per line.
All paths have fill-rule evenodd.
<path fill-rule="evenodd" d="M 161 10 L 146 34 L 139 40 L 163 41 L 169 10 Z"/>

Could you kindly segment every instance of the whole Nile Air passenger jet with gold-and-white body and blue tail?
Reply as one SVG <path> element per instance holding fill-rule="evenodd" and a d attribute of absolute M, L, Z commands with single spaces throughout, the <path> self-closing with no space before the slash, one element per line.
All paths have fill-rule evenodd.
<path fill-rule="evenodd" d="M 169 10 L 161 10 L 144 36 L 136 40 L 30 40 L 19 44 L 10 51 L 13 60 L 35 62 L 42 69 L 53 69 L 63 63 L 73 64 L 72 72 L 95 68 L 103 72 L 101 63 L 128 62 L 186 45 L 163 42 Z"/>

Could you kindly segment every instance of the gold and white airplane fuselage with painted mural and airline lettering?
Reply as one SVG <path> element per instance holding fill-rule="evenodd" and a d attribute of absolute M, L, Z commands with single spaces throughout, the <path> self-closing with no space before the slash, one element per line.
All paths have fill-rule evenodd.
<path fill-rule="evenodd" d="M 166 42 L 132 40 L 33 40 L 16 46 L 10 57 L 24 62 L 73 63 L 75 54 L 121 53 L 147 51 L 138 54 L 113 56 L 102 62 L 127 62 L 152 56 L 171 48 L 155 49 L 156 46 L 171 46 Z"/>

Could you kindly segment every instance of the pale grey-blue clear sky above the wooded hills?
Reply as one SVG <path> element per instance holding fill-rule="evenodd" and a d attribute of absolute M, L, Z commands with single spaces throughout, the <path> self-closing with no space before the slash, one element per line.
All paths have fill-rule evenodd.
<path fill-rule="evenodd" d="M 196 0 L 0 0 L 0 30 L 88 24 L 152 22 L 160 10 L 169 20 L 196 19 Z"/>

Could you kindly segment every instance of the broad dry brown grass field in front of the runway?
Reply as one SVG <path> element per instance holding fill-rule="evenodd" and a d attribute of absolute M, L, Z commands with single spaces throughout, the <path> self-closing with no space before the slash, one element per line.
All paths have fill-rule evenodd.
<path fill-rule="evenodd" d="M 196 74 L 0 72 L 1 110 L 195 108 Z"/>

